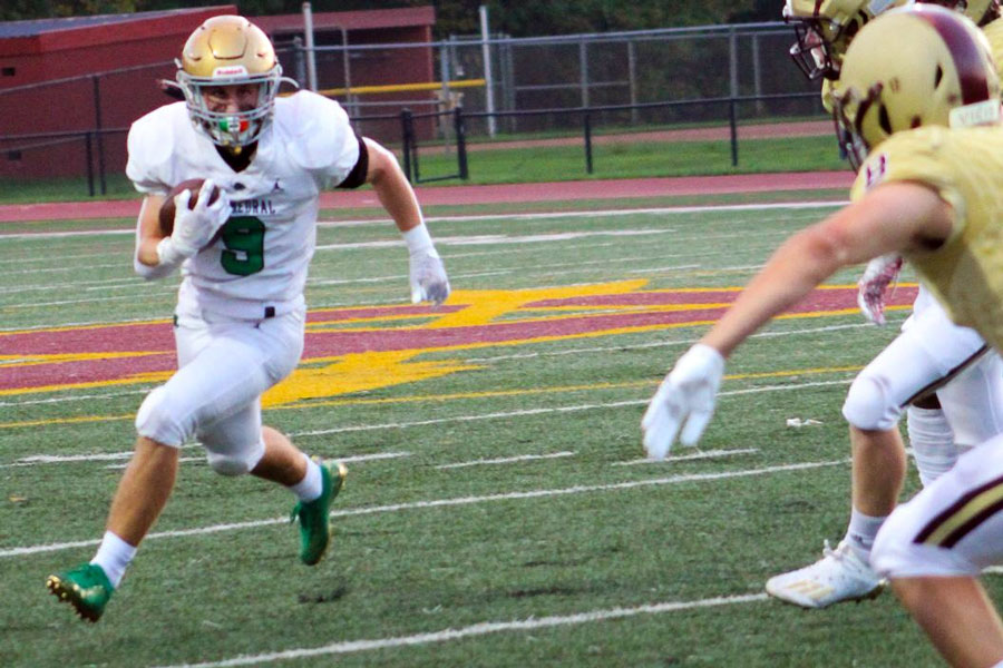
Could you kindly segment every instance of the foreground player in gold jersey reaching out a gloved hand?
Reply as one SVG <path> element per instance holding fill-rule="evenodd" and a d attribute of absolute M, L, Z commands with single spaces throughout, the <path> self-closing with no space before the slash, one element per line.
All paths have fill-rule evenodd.
<path fill-rule="evenodd" d="M 896 48 L 889 49 L 890 42 Z M 650 458 L 694 444 L 724 360 L 837 269 L 902 253 L 960 325 L 1003 346 L 1003 128 L 989 43 L 933 4 L 886 12 L 850 43 L 834 114 L 859 165 L 853 204 L 793 235 L 678 360 L 641 426 Z M 977 578 L 1003 561 L 1003 436 L 898 507 L 871 563 L 953 665 L 1003 661 L 1003 622 Z"/>

